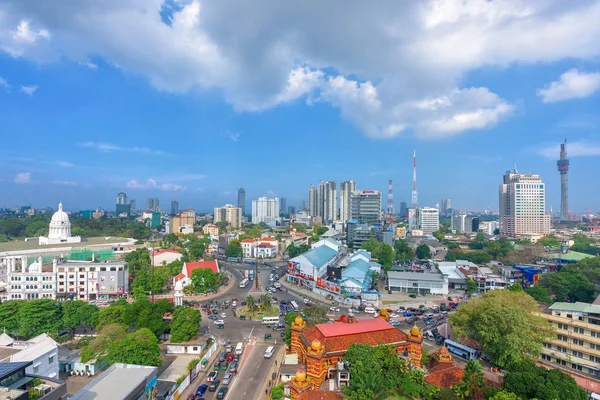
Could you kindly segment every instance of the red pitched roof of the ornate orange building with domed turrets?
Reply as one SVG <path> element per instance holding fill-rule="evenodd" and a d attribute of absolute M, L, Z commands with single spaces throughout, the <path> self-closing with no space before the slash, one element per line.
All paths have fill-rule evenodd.
<path fill-rule="evenodd" d="M 371 322 L 380 320 L 379 322 Z M 368 321 L 368 322 L 367 322 Z M 365 323 L 366 322 L 366 323 Z M 371 323 L 369 323 L 371 322 Z M 362 325 L 362 327 L 361 327 Z M 369 328 L 368 325 L 371 327 Z M 384 328 L 387 325 L 387 328 Z M 325 336 L 321 329 L 327 327 Z M 325 347 L 325 352 L 342 352 L 352 344 L 364 343 L 369 346 L 380 344 L 402 343 L 407 341 L 406 334 L 400 332 L 381 318 L 360 320 L 356 323 L 334 322 L 333 324 L 316 325 L 303 331 L 308 343 L 317 339 Z"/>

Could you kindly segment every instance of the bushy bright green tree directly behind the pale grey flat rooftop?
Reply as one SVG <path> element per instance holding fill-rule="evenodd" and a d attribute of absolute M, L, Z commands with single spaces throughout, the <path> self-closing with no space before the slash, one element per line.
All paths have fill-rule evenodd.
<path fill-rule="evenodd" d="M 146 328 L 128 333 L 124 339 L 110 344 L 108 359 L 111 364 L 125 363 L 155 367 L 162 364 L 158 339 Z"/>

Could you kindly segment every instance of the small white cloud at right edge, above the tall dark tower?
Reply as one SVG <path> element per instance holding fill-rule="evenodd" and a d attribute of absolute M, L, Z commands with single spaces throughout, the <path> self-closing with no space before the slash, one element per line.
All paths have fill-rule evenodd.
<path fill-rule="evenodd" d="M 538 96 L 544 103 L 581 99 L 600 91 L 600 72 L 580 72 L 573 68 L 563 73 L 558 81 L 551 82 L 544 89 L 538 89 Z"/>

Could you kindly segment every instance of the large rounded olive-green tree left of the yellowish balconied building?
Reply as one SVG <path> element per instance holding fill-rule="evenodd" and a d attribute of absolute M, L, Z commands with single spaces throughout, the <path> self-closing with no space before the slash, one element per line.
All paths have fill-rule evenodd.
<path fill-rule="evenodd" d="M 539 355 L 555 329 L 537 315 L 537 303 L 523 292 L 492 290 L 462 304 L 450 317 L 454 336 L 474 338 L 495 364 L 505 367 L 523 354 Z"/>

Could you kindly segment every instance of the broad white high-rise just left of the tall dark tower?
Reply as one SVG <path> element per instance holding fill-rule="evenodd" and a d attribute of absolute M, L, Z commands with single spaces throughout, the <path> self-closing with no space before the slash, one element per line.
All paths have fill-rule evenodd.
<path fill-rule="evenodd" d="M 517 167 L 506 171 L 499 188 L 500 233 L 505 236 L 546 235 L 550 215 L 546 214 L 546 185 L 539 175 L 520 174 Z"/>

